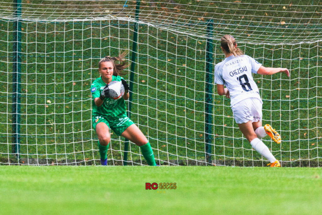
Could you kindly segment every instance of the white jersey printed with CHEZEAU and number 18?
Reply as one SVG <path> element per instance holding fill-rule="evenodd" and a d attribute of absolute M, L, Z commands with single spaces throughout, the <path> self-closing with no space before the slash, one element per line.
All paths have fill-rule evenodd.
<path fill-rule="evenodd" d="M 260 99 L 258 87 L 251 74 L 257 73 L 260 66 L 260 63 L 246 54 L 229 56 L 215 66 L 215 83 L 227 87 L 231 106 L 246 98 Z"/>

